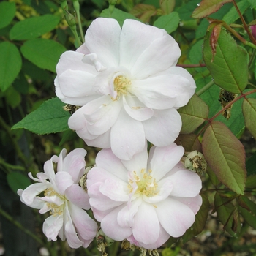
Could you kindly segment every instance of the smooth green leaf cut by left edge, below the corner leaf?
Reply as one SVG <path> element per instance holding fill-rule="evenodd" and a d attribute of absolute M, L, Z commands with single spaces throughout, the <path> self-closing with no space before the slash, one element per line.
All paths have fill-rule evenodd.
<path fill-rule="evenodd" d="M 21 69 L 21 56 L 18 48 L 10 42 L 0 43 L 0 89 L 5 91 Z"/>

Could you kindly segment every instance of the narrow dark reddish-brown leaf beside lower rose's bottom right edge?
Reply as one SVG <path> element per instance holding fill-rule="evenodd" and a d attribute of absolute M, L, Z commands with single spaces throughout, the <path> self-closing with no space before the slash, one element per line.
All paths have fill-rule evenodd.
<path fill-rule="evenodd" d="M 195 216 L 195 222 L 182 236 L 184 243 L 201 233 L 206 225 L 210 204 L 206 195 L 201 195 L 201 197 L 203 203 Z"/>

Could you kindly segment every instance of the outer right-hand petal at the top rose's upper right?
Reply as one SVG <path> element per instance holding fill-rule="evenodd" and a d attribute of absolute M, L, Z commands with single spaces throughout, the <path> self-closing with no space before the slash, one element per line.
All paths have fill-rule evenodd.
<path fill-rule="evenodd" d="M 173 37 L 165 35 L 155 39 L 133 65 L 132 76 L 136 79 L 148 78 L 159 71 L 175 66 L 180 56 L 181 50 Z"/>

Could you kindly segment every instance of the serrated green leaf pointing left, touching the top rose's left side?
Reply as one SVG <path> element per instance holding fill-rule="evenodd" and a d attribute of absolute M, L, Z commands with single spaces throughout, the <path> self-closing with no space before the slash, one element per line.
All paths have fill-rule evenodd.
<path fill-rule="evenodd" d="M 67 121 L 70 114 L 63 109 L 63 106 L 64 103 L 59 98 L 49 99 L 15 124 L 12 129 L 24 128 L 39 135 L 64 132 L 69 129 Z"/>

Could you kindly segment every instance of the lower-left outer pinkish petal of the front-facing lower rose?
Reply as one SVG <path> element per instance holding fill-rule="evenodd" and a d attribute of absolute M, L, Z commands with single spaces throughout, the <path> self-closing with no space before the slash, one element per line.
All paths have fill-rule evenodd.
<path fill-rule="evenodd" d="M 124 240 L 132 234 L 130 227 L 121 227 L 117 222 L 118 212 L 121 211 L 124 206 L 125 205 L 121 205 L 113 209 L 113 211 L 110 211 L 110 213 L 102 219 L 100 225 L 105 235 L 116 241 Z"/>

